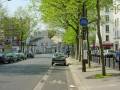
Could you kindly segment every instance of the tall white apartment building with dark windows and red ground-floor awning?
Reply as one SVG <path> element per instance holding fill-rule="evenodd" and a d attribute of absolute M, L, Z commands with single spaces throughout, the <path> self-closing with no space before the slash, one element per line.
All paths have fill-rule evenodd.
<path fill-rule="evenodd" d="M 101 10 L 101 36 L 104 49 L 120 49 L 120 0 Z M 99 45 L 96 35 L 96 45 Z"/>

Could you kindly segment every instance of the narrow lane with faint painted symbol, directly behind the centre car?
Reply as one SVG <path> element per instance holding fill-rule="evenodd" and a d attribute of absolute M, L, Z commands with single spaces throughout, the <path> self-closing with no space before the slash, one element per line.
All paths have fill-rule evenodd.
<path fill-rule="evenodd" d="M 51 73 L 41 90 L 78 90 L 68 66 L 51 67 Z"/>

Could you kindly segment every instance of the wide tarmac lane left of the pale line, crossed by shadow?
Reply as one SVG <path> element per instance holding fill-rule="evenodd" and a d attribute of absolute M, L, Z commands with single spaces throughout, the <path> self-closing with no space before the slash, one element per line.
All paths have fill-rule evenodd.
<path fill-rule="evenodd" d="M 50 67 L 48 55 L 0 65 L 0 90 L 34 90 Z"/>

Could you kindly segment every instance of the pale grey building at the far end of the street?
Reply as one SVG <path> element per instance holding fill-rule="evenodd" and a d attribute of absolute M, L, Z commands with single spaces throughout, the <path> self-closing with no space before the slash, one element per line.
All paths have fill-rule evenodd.
<path fill-rule="evenodd" d="M 55 51 L 55 43 L 48 38 L 48 31 L 36 31 L 34 32 L 34 38 L 32 40 L 33 51 L 35 53 L 52 53 Z"/>

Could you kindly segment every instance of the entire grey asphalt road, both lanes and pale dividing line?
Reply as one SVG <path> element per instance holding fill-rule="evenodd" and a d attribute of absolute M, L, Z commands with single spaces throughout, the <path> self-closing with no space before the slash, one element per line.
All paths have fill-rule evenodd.
<path fill-rule="evenodd" d="M 77 90 L 68 66 L 51 67 L 51 55 L 0 65 L 0 90 Z"/>

